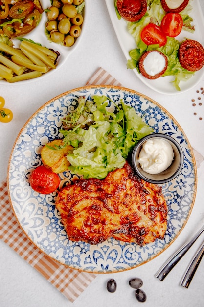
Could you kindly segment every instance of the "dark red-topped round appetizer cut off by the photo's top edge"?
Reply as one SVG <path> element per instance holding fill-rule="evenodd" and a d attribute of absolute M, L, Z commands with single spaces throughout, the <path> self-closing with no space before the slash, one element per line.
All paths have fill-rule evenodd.
<path fill-rule="evenodd" d="M 141 19 L 147 11 L 146 0 L 117 0 L 116 6 L 120 16 L 131 22 Z"/>

